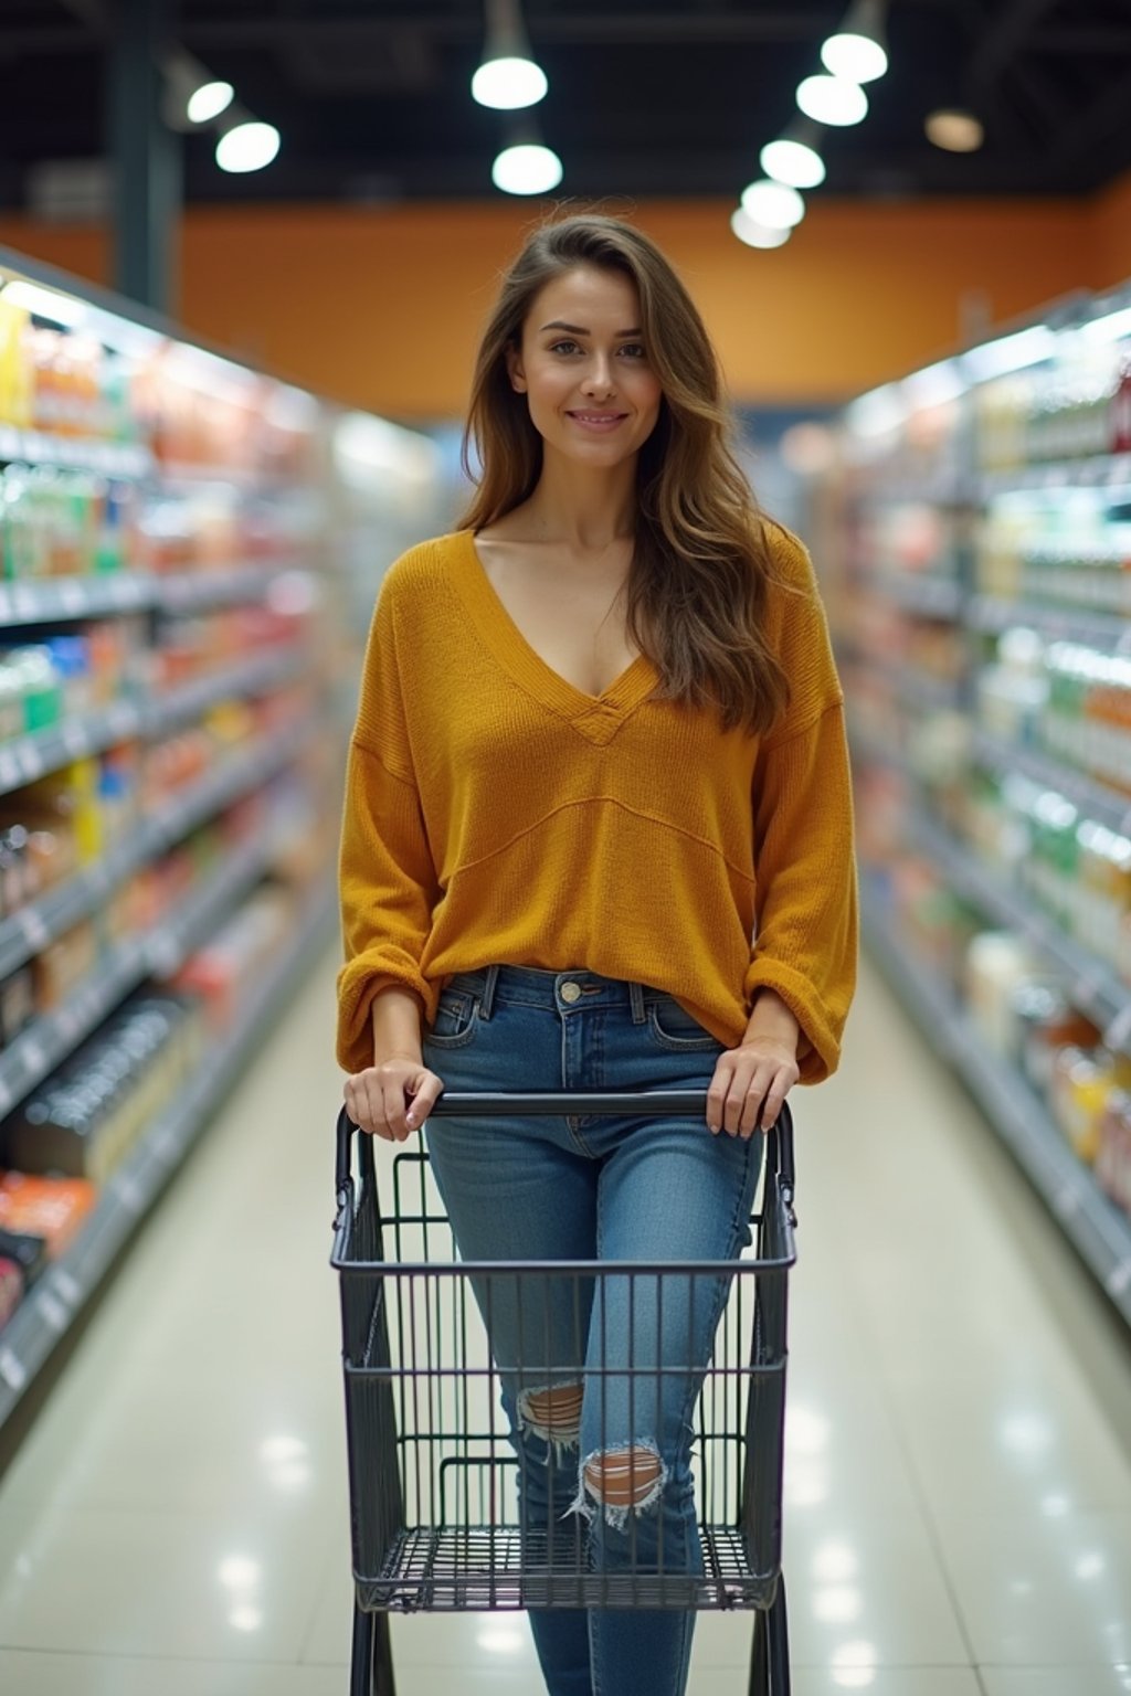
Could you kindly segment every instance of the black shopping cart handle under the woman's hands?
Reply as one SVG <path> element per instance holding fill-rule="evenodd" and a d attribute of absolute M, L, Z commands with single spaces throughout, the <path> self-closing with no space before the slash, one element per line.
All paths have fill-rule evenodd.
<path fill-rule="evenodd" d="M 507 1118 L 510 1114 L 590 1114 L 610 1118 L 617 1114 L 636 1114 L 639 1118 L 661 1118 L 663 1114 L 705 1114 L 705 1089 L 548 1089 L 548 1091 L 444 1091 L 432 1106 L 432 1114 L 443 1118 Z M 358 1126 L 346 1109 L 337 1114 L 337 1197 L 351 1184 L 351 1141 Z M 359 1143 L 361 1177 L 373 1180 L 373 1138 L 361 1136 Z M 794 1169 L 794 1116 L 788 1102 L 782 1106 L 773 1130 L 766 1131 L 766 1170 L 777 1172 L 778 1192 L 788 1211 L 790 1225 L 797 1225 L 794 1214 L 794 1192 L 797 1187 Z"/>

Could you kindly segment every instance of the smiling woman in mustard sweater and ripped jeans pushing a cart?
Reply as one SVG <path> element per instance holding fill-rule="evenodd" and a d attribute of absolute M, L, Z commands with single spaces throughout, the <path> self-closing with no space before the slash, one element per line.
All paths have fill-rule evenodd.
<path fill-rule="evenodd" d="M 755 1133 L 833 1072 L 855 985 L 812 566 L 756 510 L 704 324 L 629 224 L 566 217 L 526 243 L 468 438 L 461 529 L 392 566 L 365 661 L 346 1104 L 402 1141 L 444 1085 L 707 1089 L 705 1124 L 441 1119 L 429 1153 L 466 1260 L 734 1258 Z M 488 1330 L 524 1523 L 573 1526 L 609 1570 L 702 1570 L 688 1420 L 726 1280 L 502 1282 Z M 617 1364 L 655 1377 L 597 1370 Z M 694 1613 L 531 1625 L 551 1696 L 687 1686 Z"/>

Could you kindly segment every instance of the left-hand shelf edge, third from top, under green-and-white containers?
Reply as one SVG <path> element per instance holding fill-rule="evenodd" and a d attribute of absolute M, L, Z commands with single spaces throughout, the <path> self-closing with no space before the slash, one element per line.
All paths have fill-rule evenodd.
<path fill-rule="evenodd" d="M 273 648 L 266 655 L 197 677 L 164 697 L 119 700 L 83 719 L 70 719 L 54 729 L 20 736 L 0 746 L 0 795 L 117 743 L 168 736 L 220 700 L 265 695 L 271 689 L 281 689 L 309 670 L 307 653 L 300 643 Z"/>

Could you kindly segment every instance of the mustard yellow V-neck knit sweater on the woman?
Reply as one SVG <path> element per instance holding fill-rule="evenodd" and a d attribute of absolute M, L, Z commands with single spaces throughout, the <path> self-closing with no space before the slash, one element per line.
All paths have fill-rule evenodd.
<path fill-rule="evenodd" d="M 378 990 L 417 990 L 431 1023 L 448 977 L 493 962 L 651 984 L 727 1046 L 768 985 L 800 1021 L 802 1082 L 834 1070 L 856 977 L 843 695 L 809 555 L 770 536 L 802 594 L 772 592 L 794 699 L 765 739 L 649 700 L 644 655 L 600 697 L 565 682 L 468 531 L 390 568 L 341 838 L 348 1072 L 373 1063 Z"/>

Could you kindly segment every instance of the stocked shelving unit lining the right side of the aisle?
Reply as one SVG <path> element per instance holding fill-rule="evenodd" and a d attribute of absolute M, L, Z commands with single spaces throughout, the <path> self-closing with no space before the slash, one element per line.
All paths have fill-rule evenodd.
<path fill-rule="evenodd" d="M 1075 829 L 1063 797 L 1089 821 L 1089 899 L 1114 914 L 1117 860 L 1102 882 L 1095 856 L 1107 850 L 1097 843 L 1104 833 L 1131 836 L 1131 794 L 1051 750 L 1063 733 L 1073 756 L 1119 770 L 1121 673 L 1106 661 L 1131 655 L 1131 617 L 1116 611 L 1131 582 L 1131 451 L 1094 449 L 1123 439 L 1128 305 L 1131 288 L 1102 302 L 1073 297 L 1045 321 L 1055 338 L 1002 331 L 994 348 L 958 353 L 848 407 L 843 463 L 821 502 L 831 529 L 814 543 L 833 572 L 839 563 L 829 605 L 861 790 L 870 953 L 1131 1323 L 1131 1216 L 1077 1158 L 1019 1067 L 987 1045 L 975 1018 L 924 968 L 902 923 L 905 907 L 961 950 L 968 921 L 956 904 L 936 901 L 943 890 L 956 895 L 983 929 L 1024 940 L 1102 1045 L 1131 1058 L 1131 985 L 1041 904 L 1026 877 L 1024 836 L 1002 824 L 997 868 L 958 834 L 975 841 L 999 817 L 1016 821 L 1017 833 L 1068 819 L 1031 838 L 1031 851 L 1053 863 L 1056 831 Z M 1039 365 L 1026 363 L 1028 349 Z M 1056 656 L 1056 643 L 1097 658 Z M 955 683 L 939 685 L 951 665 Z M 1085 719 L 1078 702 L 1089 689 L 1109 694 Z M 1046 711 L 1080 717 L 1061 724 Z M 1033 819 L 1024 801 L 1012 812 L 1022 794 L 1009 787 L 1014 777 L 1036 785 Z M 1002 784 L 1011 799 L 995 790 Z M 1072 865 L 1058 863 L 1056 875 L 1072 877 Z M 1097 911 L 1080 901 L 1082 912 Z"/>

